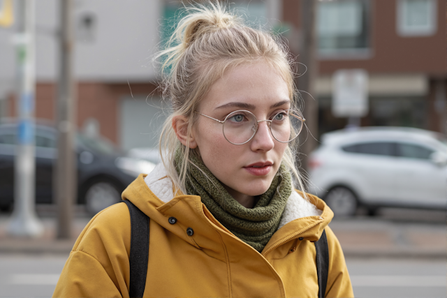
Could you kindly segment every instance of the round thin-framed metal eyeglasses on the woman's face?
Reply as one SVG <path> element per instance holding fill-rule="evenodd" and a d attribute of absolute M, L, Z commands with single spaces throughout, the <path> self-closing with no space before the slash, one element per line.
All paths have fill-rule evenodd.
<path fill-rule="evenodd" d="M 235 145 L 242 145 L 249 142 L 256 134 L 256 131 L 258 131 L 259 122 L 264 121 L 267 122 L 274 140 L 281 143 L 291 142 L 298 137 L 302 130 L 302 124 L 306 121 L 295 110 L 282 110 L 274 114 L 270 119 L 265 120 L 257 120 L 254 114 L 247 110 L 231 112 L 223 121 L 199 112 L 196 113 L 223 124 L 223 136 L 228 142 Z"/>

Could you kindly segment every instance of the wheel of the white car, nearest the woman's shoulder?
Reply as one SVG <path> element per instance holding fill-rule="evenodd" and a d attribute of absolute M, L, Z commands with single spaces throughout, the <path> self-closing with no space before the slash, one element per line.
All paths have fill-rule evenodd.
<path fill-rule="evenodd" d="M 347 217 L 356 214 L 357 198 L 349 188 L 336 186 L 325 195 L 325 202 L 334 216 Z"/>

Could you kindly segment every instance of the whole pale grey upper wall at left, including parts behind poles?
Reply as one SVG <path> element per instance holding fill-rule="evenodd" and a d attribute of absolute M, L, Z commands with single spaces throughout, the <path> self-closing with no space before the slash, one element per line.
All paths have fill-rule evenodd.
<path fill-rule="evenodd" d="M 14 2 L 17 13 L 19 1 Z M 99 82 L 138 82 L 154 79 L 150 60 L 159 42 L 161 0 L 75 0 L 74 22 L 86 13 L 95 16 L 94 38 L 75 43 L 75 76 Z M 17 19 L 16 19 L 17 22 Z M 36 77 L 57 77 L 59 1 L 36 1 Z M 1 90 L 15 79 L 15 50 L 10 42 L 16 24 L 0 28 Z"/>

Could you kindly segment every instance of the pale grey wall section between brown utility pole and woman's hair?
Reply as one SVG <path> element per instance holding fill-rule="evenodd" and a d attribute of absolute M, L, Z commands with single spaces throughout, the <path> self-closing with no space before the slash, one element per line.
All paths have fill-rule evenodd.
<path fill-rule="evenodd" d="M 147 81 L 159 42 L 159 0 L 78 0 L 75 16 L 96 15 L 94 40 L 76 45 L 75 71 L 82 80 Z"/>

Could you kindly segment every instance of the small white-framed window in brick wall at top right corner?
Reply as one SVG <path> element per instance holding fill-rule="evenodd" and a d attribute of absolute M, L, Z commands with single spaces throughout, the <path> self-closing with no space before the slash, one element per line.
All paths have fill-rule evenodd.
<path fill-rule="evenodd" d="M 436 0 L 397 1 L 397 33 L 401 36 L 430 36 L 436 32 Z"/>

